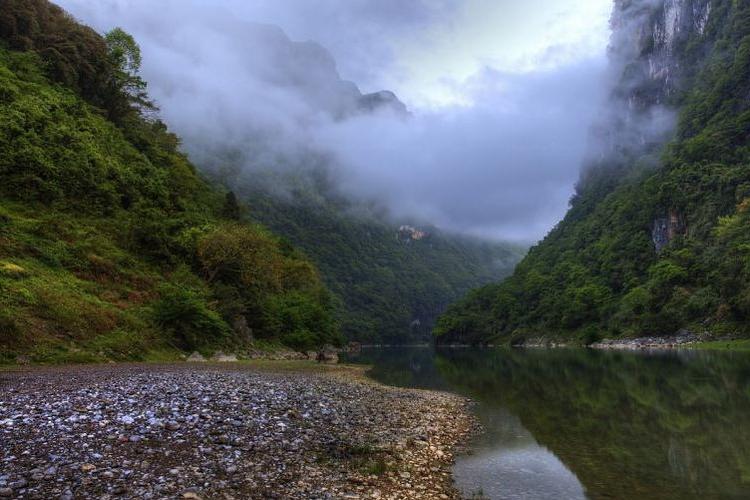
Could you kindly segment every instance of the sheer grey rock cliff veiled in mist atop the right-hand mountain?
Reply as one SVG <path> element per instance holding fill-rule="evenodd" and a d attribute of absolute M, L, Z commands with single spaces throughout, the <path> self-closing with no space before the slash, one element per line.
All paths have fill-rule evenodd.
<path fill-rule="evenodd" d="M 700 37 L 711 0 L 616 0 L 609 48 L 613 91 L 592 135 L 591 168 L 617 168 L 674 130 L 672 98 L 690 64 L 678 50 Z"/>

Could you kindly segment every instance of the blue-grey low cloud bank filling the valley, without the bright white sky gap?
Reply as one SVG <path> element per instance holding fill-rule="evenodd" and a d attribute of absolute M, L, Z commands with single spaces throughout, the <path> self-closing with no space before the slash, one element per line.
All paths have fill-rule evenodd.
<path fill-rule="evenodd" d="M 543 69 L 484 67 L 451 83 L 461 104 L 412 107 L 410 117 L 361 113 L 359 89 L 339 77 L 338 61 L 323 46 L 291 42 L 286 26 L 254 22 L 282 23 L 285 8 L 309 9 L 308 2 L 250 3 L 165 0 L 156 9 L 145 0 L 61 2 L 101 31 L 120 25 L 136 36 L 163 118 L 204 168 L 224 165 L 222 152 L 239 155 L 246 172 L 325 164 L 344 193 L 375 200 L 396 217 L 497 239 L 534 241 L 564 214 L 604 99 L 603 48 Z M 368 52 L 378 33 L 403 37 L 446 22 L 459 6 L 326 0 L 306 32 L 324 32 L 321 12 L 333 16 L 340 7 L 334 24 L 343 17 L 351 33 L 360 26 L 366 35 L 352 34 L 351 47 L 336 53 L 371 54 L 369 69 L 344 66 L 372 82 L 368 72 L 395 67 L 391 44 Z M 297 33 L 304 31 L 298 14 L 287 15 Z M 546 53 L 558 49 L 572 50 L 550 46 Z"/>

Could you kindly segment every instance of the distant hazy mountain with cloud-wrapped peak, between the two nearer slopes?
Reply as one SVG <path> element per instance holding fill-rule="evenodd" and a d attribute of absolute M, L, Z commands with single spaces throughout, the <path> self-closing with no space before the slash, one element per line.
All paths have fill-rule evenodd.
<path fill-rule="evenodd" d="M 373 115 L 389 123 L 411 119 L 393 92 L 361 93 L 341 78 L 325 48 L 292 41 L 278 27 L 242 22 L 223 36 L 243 47 L 243 58 L 248 54 L 242 80 L 254 82 L 260 96 L 283 92 L 295 126 L 278 125 L 281 109 L 261 127 L 251 113 L 234 120 L 221 108 L 226 133 L 196 133 L 193 124 L 182 123 L 184 147 L 199 168 L 247 204 L 248 220 L 288 239 L 316 264 L 348 340 L 431 341 L 437 316 L 451 302 L 510 274 L 523 249 L 433 227 L 424 228 L 424 238 L 413 237 L 416 228 L 411 235 L 400 232 L 403 225 L 422 229 L 394 220 L 375 201 L 347 194 L 347 165 L 305 133 L 321 123 L 345 125 Z M 304 106 L 289 104 L 299 102 Z"/>

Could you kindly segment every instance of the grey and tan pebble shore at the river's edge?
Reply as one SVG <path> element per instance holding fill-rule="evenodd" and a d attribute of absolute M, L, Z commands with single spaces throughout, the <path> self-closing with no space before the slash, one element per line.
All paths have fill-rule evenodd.
<path fill-rule="evenodd" d="M 467 404 L 301 362 L 0 371 L 0 498 L 459 498 Z"/>

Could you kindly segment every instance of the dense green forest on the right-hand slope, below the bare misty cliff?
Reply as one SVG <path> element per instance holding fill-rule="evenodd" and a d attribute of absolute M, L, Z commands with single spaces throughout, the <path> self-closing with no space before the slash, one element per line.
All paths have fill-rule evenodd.
<path fill-rule="evenodd" d="M 439 320 L 441 341 L 750 333 L 750 5 L 712 2 L 705 33 L 675 50 L 694 71 L 660 167 L 644 155 L 588 172 L 511 278 Z M 659 218 L 677 227 L 657 252 Z"/>

